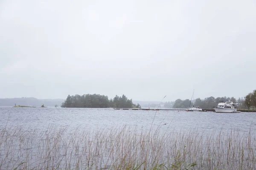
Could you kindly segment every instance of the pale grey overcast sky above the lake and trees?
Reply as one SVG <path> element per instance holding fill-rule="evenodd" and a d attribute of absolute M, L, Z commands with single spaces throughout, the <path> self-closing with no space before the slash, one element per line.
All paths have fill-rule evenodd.
<path fill-rule="evenodd" d="M 0 98 L 256 89 L 255 0 L 0 0 Z"/>

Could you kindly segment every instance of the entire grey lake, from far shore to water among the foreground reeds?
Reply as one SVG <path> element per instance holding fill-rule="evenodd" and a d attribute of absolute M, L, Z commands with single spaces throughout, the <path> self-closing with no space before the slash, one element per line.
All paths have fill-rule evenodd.
<path fill-rule="evenodd" d="M 119 133 L 118 130 L 123 127 L 127 128 Z M 173 160 L 169 158 L 174 158 L 180 151 L 183 152 L 183 148 L 187 148 L 187 150 L 199 148 L 198 151 L 189 153 L 190 155 L 186 156 L 186 159 L 184 157 L 188 163 L 200 159 L 203 162 L 201 165 L 204 165 L 205 169 L 209 169 L 209 167 L 217 166 L 217 164 L 208 164 L 208 156 L 212 155 L 211 160 L 217 158 L 223 160 L 219 165 L 222 169 L 232 169 L 232 166 L 240 164 L 240 159 L 237 159 L 241 157 L 240 147 L 244 148 L 248 143 L 251 143 L 252 146 L 255 145 L 255 133 L 250 133 L 249 138 L 246 137 L 249 132 L 254 132 L 255 127 L 256 113 L 252 112 L 0 107 L 0 169 L 15 169 L 15 167 L 20 167 L 20 169 L 58 169 L 58 166 L 61 166 L 60 169 L 75 169 L 79 166 L 84 167 L 85 164 L 87 164 L 87 169 L 107 169 L 109 159 L 111 159 L 109 166 L 113 166 L 115 162 L 120 164 L 119 161 L 122 158 L 119 156 L 127 154 L 128 150 L 132 150 L 132 153 L 127 155 L 131 156 L 130 159 L 134 157 L 135 161 L 153 158 L 153 156 L 145 157 L 147 154 L 141 153 L 145 149 L 146 153 L 151 153 L 151 155 L 161 155 L 159 161 L 168 162 Z M 148 141 L 145 140 L 145 134 L 148 134 L 145 132 L 156 132 L 156 130 L 156 135 Z M 187 133 L 191 130 L 192 133 Z M 239 131 L 238 137 L 236 134 L 233 137 L 229 136 L 234 131 Z M 219 142 L 216 142 L 214 138 L 203 139 L 204 137 L 200 137 L 200 135 L 207 136 L 209 134 L 218 137 L 220 132 L 224 136 L 217 138 Z M 174 133 L 177 136 L 172 135 Z M 179 135 L 182 133 L 188 135 Z M 122 137 L 119 134 L 122 134 Z M 168 137 L 162 139 L 161 136 L 164 134 L 167 134 Z M 229 160 L 231 163 L 227 163 L 225 160 L 230 159 L 231 151 L 220 148 L 228 146 L 228 141 L 231 138 L 233 144 L 236 145 L 233 149 L 233 155 L 236 156 Z M 163 150 L 161 154 L 155 153 L 152 146 L 158 148 L 161 140 L 165 141 L 162 143 Z M 156 143 L 151 145 L 152 142 Z M 133 149 L 128 149 L 129 147 Z M 111 148 L 116 153 L 113 156 L 110 156 L 113 152 Z M 180 148 L 181 150 L 177 151 Z M 215 148 L 219 149 L 216 151 Z M 248 155 L 248 159 L 246 159 L 248 163 L 244 164 L 242 169 L 256 167 L 255 163 L 251 161 L 254 160 L 256 149 L 252 148 L 248 148 L 250 154 L 245 154 L 245 156 Z M 170 150 L 172 152 L 169 152 Z M 204 154 L 205 150 L 207 153 Z M 242 154 L 246 152 L 242 152 Z M 67 168 L 67 164 L 69 168 Z M 88 168 L 90 166 L 92 167 Z M 193 169 L 202 169 L 202 167 Z"/>

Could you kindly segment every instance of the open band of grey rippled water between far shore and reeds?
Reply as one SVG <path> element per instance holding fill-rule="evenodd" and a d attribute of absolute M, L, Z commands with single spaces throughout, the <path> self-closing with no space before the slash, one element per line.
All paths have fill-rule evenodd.
<path fill-rule="evenodd" d="M 137 111 L 111 108 L 12 108 L 0 107 L 0 128 L 23 126 L 44 129 L 49 126 L 73 128 L 129 127 L 161 130 L 225 131 L 239 129 L 247 132 L 256 127 L 254 113 L 215 113 L 186 111 Z M 153 122 L 153 123 L 152 123 Z"/>

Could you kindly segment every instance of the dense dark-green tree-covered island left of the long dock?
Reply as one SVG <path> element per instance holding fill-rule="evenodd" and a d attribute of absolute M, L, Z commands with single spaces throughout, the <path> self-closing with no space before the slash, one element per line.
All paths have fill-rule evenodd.
<path fill-rule="evenodd" d="M 141 108 L 139 104 L 132 103 L 124 94 L 108 99 L 108 96 L 100 94 L 84 94 L 67 96 L 67 99 L 61 104 L 62 108 Z"/>

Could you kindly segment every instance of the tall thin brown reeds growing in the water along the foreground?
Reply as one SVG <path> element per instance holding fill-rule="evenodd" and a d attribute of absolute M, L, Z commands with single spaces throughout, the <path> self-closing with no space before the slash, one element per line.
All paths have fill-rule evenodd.
<path fill-rule="evenodd" d="M 204 134 L 197 130 L 137 130 L 129 127 L 68 130 L 49 127 L 0 131 L 0 169 L 253 170 L 252 131 Z"/>

